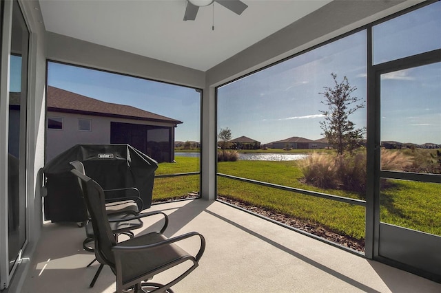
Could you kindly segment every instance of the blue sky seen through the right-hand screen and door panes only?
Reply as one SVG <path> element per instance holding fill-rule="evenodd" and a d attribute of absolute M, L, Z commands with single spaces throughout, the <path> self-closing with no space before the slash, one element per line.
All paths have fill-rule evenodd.
<path fill-rule="evenodd" d="M 441 3 L 374 27 L 373 60 L 391 61 L 441 48 Z M 361 31 L 218 89 L 218 127 L 234 138 L 262 143 L 299 136 L 322 138 L 320 92 L 333 87 L 331 73 L 367 97 L 366 32 Z M 393 72 L 382 77 L 381 139 L 441 144 L 441 65 Z M 365 127 L 367 109 L 349 116 Z"/>

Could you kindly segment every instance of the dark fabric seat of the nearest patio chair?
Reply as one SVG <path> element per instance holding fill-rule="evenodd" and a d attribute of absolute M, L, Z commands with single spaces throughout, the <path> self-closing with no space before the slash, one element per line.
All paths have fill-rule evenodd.
<path fill-rule="evenodd" d="M 120 242 L 118 246 L 143 246 L 166 240 L 167 237 L 158 232 L 151 232 L 132 239 Z M 158 268 L 164 270 L 172 263 L 179 263 L 185 259 L 193 259 L 191 254 L 171 243 L 158 248 L 152 248 L 146 253 L 145 250 L 127 250 L 121 259 L 121 273 L 123 283 L 139 279 L 141 276 L 157 274 Z M 159 270 L 161 272 L 161 270 Z M 147 280 L 147 278 L 145 279 Z"/>

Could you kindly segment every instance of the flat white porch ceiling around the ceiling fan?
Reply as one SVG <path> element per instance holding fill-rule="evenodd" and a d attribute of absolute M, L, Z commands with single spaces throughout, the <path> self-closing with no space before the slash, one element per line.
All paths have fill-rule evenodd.
<path fill-rule="evenodd" d="M 183 21 L 186 0 L 40 0 L 45 29 L 206 71 L 329 3 L 243 0 L 241 15 L 214 3 Z"/>

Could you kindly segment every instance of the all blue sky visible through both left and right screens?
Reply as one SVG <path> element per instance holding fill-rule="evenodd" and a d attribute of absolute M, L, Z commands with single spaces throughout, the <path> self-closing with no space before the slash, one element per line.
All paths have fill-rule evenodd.
<path fill-rule="evenodd" d="M 374 63 L 441 47 L 441 3 L 398 17 L 373 29 Z M 245 135 L 262 143 L 300 136 L 322 138 L 320 101 L 332 87 L 331 73 L 347 76 L 366 100 L 367 41 L 360 31 L 218 89 L 218 129 L 233 138 Z M 176 140 L 200 135 L 200 94 L 194 89 L 141 78 L 50 63 L 48 84 L 84 96 L 132 105 L 181 120 Z M 382 76 L 381 139 L 441 144 L 441 65 Z M 350 116 L 366 126 L 366 108 Z"/>

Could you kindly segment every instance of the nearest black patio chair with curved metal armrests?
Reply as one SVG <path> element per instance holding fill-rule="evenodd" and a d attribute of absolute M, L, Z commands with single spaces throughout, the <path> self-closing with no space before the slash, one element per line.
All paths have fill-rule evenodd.
<path fill-rule="evenodd" d="M 150 232 L 118 243 L 110 228 L 105 210 L 103 188 L 76 169 L 71 172 L 81 180 L 81 189 L 94 230 L 96 259 L 102 265 L 109 265 L 116 275 L 117 293 L 129 288 L 133 288 L 133 292 L 145 292 L 143 288 L 153 289 L 149 292 L 172 292 L 170 289 L 172 285 L 197 268 L 205 250 L 205 239 L 201 234 L 189 232 L 167 239 L 162 234 L 163 231 Z M 201 240 L 195 256 L 185 252 L 176 244 L 189 237 L 199 237 Z M 192 263 L 191 267 L 169 283 L 162 285 L 147 282 L 154 275 L 187 262 Z"/>

